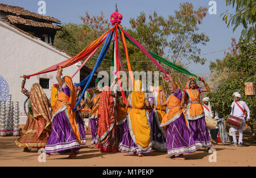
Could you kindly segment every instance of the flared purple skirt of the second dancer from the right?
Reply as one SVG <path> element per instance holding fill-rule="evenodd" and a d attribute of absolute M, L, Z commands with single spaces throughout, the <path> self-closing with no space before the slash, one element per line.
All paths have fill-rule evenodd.
<path fill-rule="evenodd" d="M 196 151 L 195 142 L 185 124 L 183 113 L 166 126 L 166 140 L 169 157 Z"/>

